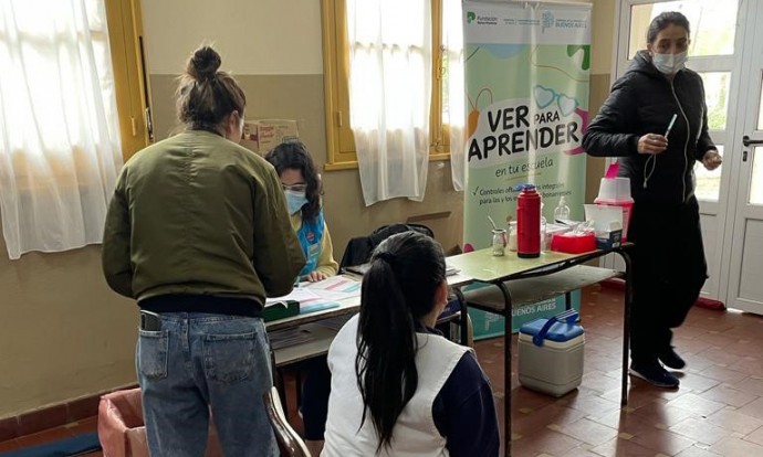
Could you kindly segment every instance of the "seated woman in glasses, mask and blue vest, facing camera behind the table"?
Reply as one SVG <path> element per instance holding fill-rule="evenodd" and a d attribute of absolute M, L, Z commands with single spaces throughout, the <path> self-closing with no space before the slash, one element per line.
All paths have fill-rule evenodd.
<path fill-rule="evenodd" d="M 307 263 L 300 272 L 300 280 L 311 283 L 336 275 L 339 265 L 334 261 L 328 226 L 321 204 L 321 179 L 307 148 L 300 141 L 282 142 L 265 156 L 281 179 L 296 232 Z M 304 438 L 313 455 L 323 445 L 331 373 L 326 358 L 314 358 L 303 363 L 302 418 Z"/>

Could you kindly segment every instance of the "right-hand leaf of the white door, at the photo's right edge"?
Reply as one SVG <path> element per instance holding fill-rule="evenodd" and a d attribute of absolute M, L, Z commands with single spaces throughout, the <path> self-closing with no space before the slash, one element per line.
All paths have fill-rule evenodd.
<path fill-rule="evenodd" d="M 734 134 L 734 153 L 724 157 L 734 177 L 728 231 L 729 281 L 727 305 L 763 315 L 763 1 L 745 1 L 744 59 L 738 104 L 740 128 Z M 730 157 L 731 156 L 731 157 Z"/>

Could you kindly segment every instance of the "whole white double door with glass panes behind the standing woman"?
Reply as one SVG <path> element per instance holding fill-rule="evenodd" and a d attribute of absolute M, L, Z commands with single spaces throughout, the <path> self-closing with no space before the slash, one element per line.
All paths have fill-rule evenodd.
<path fill-rule="evenodd" d="M 619 0 L 616 77 L 636 51 L 646 47 L 649 22 L 663 11 L 680 11 L 689 19 L 687 66 L 704 82 L 710 136 L 724 161 L 712 172 L 701 163 L 694 169 L 710 275 L 702 295 L 763 313 L 757 273 L 763 267 L 763 142 L 755 164 L 755 146 L 742 141 L 744 135 L 763 140 L 763 31 L 755 26 L 756 19 L 763 20 L 763 1 Z"/>

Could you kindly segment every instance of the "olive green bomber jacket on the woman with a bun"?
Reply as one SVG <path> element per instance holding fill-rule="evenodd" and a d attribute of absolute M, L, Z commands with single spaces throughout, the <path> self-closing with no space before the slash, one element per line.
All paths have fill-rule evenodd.
<path fill-rule="evenodd" d="M 264 304 L 291 291 L 304 264 L 275 170 L 250 150 L 190 130 L 125 163 L 103 241 L 104 275 L 118 294 Z"/>

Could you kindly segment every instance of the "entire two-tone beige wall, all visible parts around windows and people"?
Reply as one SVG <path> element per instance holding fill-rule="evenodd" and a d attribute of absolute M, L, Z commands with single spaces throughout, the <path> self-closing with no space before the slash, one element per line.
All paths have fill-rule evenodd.
<path fill-rule="evenodd" d="M 326 151 L 320 2 L 228 0 L 221 6 L 143 0 L 158 138 L 166 138 L 174 126 L 173 77 L 182 71 L 189 53 L 208 41 L 222 52 L 223 70 L 232 71 L 247 91 L 248 115 L 296 119 L 303 140 L 322 164 Z M 592 115 L 609 89 L 613 13 L 614 0 L 594 0 Z M 602 170 L 596 160 L 589 161 L 588 181 L 594 187 Z M 446 248 L 460 242 L 462 195 L 452 191 L 447 161 L 430 163 L 424 203 L 397 199 L 366 208 L 356 170 L 323 176 L 336 257 L 353 235 L 436 212 L 450 215 L 424 223 Z M 136 308 L 107 289 L 97 246 L 28 254 L 15 262 L 0 255 L 0 418 L 135 382 Z"/>

